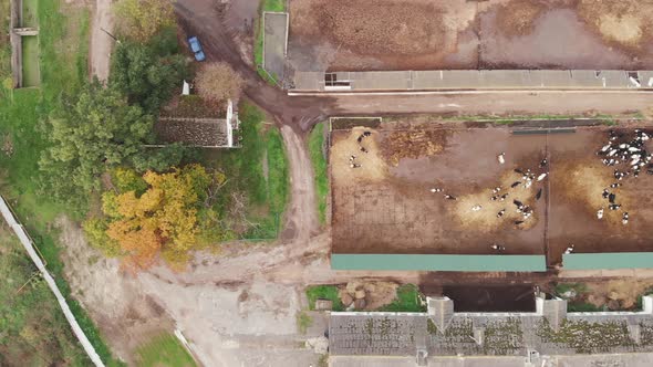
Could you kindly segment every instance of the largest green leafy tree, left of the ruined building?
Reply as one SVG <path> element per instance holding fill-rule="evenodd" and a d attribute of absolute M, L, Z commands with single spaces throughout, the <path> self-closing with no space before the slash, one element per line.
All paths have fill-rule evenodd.
<path fill-rule="evenodd" d="M 100 189 L 101 174 L 132 160 L 152 141 L 153 124 L 151 115 L 129 106 L 120 92 L 90 84 L 44 124 L 51 146 L 39 167 L 48 192 L 60 201 L 83 201 L 84 193 Z"/>

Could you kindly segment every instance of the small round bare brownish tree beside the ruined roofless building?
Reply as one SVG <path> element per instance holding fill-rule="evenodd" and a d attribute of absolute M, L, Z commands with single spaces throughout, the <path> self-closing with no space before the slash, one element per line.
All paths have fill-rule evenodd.
<path fill-rule="evenodd" d="M 242 77 L 227 63 L 211 63 L 199 70 L 195 78 L 197 93 L 207 102 L 236 98 L 242 90 Z"/>

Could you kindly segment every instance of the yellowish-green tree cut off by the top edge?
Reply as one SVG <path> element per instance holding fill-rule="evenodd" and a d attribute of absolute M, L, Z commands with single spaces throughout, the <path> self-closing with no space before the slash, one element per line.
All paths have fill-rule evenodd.
<path fill-rule="evenodd" d="M 169 0 L 120 0 L 114 11 L 121 32 L 138 42 L 146 42 L 163 28 L 175 25 L 175 9 Z"/>

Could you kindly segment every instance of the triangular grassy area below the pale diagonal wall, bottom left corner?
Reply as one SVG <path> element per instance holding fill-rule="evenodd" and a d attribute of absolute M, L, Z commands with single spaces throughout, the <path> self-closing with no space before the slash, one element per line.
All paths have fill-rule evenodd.
<path fill-rule="evenodd" d="M 39 274 L 15 235 L 2 222 L 0 366 L 91 365 L 56 298 Z"/>

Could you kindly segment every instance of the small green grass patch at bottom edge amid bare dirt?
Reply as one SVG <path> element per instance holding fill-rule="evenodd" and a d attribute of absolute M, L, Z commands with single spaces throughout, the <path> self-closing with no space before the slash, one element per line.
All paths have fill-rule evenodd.
<path fill-rule="evenodd" d="M 143 345 L 136 352 L 138 367 L 194 367 L 188 350 L 172 334 L 163 334 Z"/>

